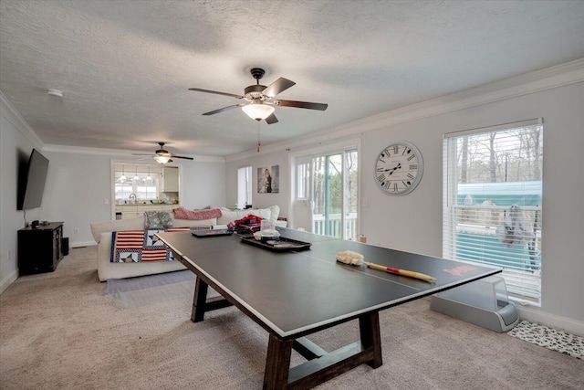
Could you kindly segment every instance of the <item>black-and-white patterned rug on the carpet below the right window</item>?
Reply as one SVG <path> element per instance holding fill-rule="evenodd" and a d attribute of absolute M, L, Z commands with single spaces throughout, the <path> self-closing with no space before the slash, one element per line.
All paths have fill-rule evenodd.
<path fill-rule="evenodd" d="M 584 359 L 584 337 L 582 336 L 558 331 L 529 321 L 519 322 L 507 334 L 577 359 Z"/>

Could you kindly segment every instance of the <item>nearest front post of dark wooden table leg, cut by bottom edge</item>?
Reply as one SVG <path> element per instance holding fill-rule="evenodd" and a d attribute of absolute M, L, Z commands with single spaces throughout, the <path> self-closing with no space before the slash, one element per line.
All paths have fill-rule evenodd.
<path fill-rule="evenodd" d="M 266 372 L 264 373 L 264 390 L 287 388 L 290 356 L 294 340 L 282 342 L 270 334 L 267 344 Z"/>

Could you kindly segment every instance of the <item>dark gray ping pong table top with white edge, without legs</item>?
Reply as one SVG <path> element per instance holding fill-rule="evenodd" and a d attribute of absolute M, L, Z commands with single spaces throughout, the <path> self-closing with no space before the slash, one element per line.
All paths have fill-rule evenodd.
<path fill-rule="evenodd" d="M 349 321 L 485 278 L 501 269 L 468 265 L 282 229 L 282 237 L 310 242 L 309 250 L 274 252 L 241 242 L 237 235 L 193 237 L 162 233 L 173 250 L 233 300 L 282 338 L 295 338 L 332 324 Z M 353 250 L 365 261 L 433 276 L 430 283 L 336 261 L 342 250 Z"/>

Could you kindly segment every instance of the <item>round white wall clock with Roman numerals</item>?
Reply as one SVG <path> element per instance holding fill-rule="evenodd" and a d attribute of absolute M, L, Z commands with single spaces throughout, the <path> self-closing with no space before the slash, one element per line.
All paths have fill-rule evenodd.
<path fill-rule="evenodd" d="M 422 153 L 412 143 L 395 142 L 375 162 L 375 181 L 387 195 L 406 195 L 420 183 Z"/>

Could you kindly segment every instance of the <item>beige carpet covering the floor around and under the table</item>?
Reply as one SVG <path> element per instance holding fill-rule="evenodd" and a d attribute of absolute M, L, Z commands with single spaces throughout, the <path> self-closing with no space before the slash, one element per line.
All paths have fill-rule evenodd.
<path fill-rule="evenodd" d="M 53 273 L 0 296 L 2 389 L 260 389 L 267 333 L 236 308 L 190 321 L 192 293 L 123 307 L 99 283 L 96 248 L 73 248 Z M 318 389 L 580 389 L 584 362 L 430 311 L 381 311 L 383 365 Z M 358 340 L 357 321 L 310 339 L 327 351 Z M 295 354 L 293 365 L 303 360 Z"/>

